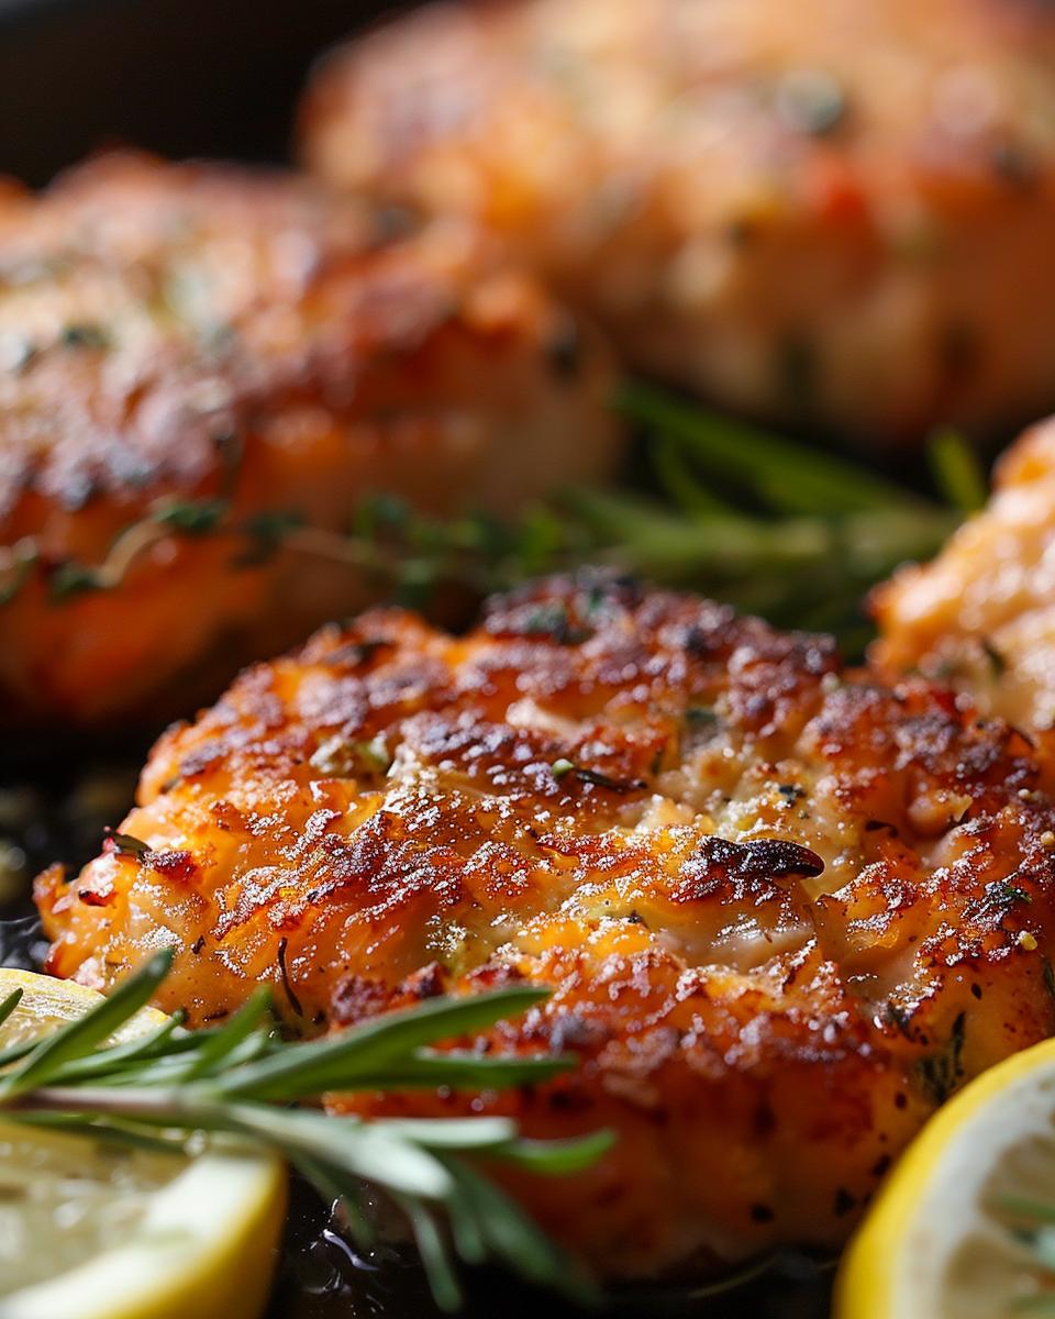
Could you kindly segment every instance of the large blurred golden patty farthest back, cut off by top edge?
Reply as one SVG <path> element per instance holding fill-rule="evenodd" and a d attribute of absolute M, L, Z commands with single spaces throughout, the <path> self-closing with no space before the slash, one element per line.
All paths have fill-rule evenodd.
<path fill-rule="evenodd" d="M 326 59 L 303 157 L 485 222 L 709 400 L 880 446 L 1055 405 L 1055 12 L 443 4 Z"/>

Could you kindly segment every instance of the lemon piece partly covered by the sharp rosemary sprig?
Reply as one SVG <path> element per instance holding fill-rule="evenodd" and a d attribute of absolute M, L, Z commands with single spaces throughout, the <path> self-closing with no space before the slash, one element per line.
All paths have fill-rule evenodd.
<path fill-rule="evenodd" d="M 22 1001 L 0 1047 L 99 996 L 0 969 Z M 116 1035 L 165 1018 L 137 1013 Z M 198 1158 L 0 1122 L 0 1319 L 255 1319 L 266 1304 L 285 1173 L 266 1155 Z"/>

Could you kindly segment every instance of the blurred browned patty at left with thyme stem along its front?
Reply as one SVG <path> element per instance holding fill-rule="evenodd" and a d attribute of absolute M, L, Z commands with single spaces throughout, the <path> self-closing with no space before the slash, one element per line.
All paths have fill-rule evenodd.
<path fill-rule="evenodd" d="M 293 175 L 119 156 L 5 199 L 0 361 L 0 588 L 37 554 L 0 603 L 22 719 L 157 721 L 386 586 L 303 536 L 255 553 L 261 514 L 508 512 L 618 450 L 605 353 L 491 240 Z M 115 555 L 119 586 L 76 588 Z"/>

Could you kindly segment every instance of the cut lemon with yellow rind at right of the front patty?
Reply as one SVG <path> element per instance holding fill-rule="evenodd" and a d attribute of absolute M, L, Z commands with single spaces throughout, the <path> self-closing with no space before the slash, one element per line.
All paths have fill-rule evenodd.
<path fill-rule="evenodd" d="M 1055 1225 L 1039 1229 L 1046 1269 L 1022 1202 L 1055 1207 L 1055 1041 L 993 1067 L 931 1119 L 851 1242 L 836 1319 L 1055 1314 Z"/>

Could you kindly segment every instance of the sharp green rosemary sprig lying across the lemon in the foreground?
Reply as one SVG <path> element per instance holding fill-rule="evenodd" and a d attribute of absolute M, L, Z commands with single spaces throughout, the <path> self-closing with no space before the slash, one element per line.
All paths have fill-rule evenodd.
<path fill-rule="evenodd" d="M 83 1017 L 0 1051 L 0 1113 L 149 1148 L 186 1150 L 193 1133 L 208 1133 L 274 1150 L 324 1198 L 340 1202 L 361 1249 L 377 1231 L 364 1191 L 380 1191 L 402 1213 L 446 1310 L 462 1302 L 456 1258 L 493 1260 L 574 1299 L 592 1299 L 591 1279 L 487 1169 L 505 1163 L 566 1175 L 608 1149 L 607 1132 L 534 1141 L 504 1117 L 367 1120 L 290 1107 L 332 1092 L 545 1082 L 574 1067 L 574 1057 L 434 1046 L 517 1016 L 546 991 L 433 998 L 316 1041 L 286 1042 L 273 1026 L 269 993 L 260 989 L 220 1028 L 189 1031 L 177 1017 L 140 1038 L 107 1043 L 153 997 L 170 966 L 170 952 L 156 954 Z M 0 1022 L 20 997 L 16 991 L 0 1002 Z"/>

